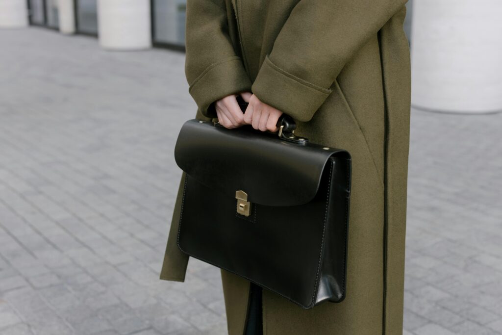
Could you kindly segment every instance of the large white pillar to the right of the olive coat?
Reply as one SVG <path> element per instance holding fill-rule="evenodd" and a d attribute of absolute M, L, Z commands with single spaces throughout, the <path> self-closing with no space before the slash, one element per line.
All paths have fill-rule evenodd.
<path fill-rule="evenodd" d="M 502 2 L 418 0 L 412 19 L 412 104 L 502 110 Z"/>

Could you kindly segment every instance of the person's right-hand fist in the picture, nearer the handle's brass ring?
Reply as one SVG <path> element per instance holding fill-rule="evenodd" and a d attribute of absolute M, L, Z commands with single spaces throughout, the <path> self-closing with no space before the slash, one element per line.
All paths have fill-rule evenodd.
<path fill-rule="evenodd" d="M 252 125 L 254 129 L 262 132 L 267 130 L 277 132 L 279 130 L 276 125 L 283 114 L 282 111 L 260 101 L 255 94 L 244 92 L 241 95 L 244 101 L 249 102 L 244 113 L 244 122 L 246 124 Z"/>

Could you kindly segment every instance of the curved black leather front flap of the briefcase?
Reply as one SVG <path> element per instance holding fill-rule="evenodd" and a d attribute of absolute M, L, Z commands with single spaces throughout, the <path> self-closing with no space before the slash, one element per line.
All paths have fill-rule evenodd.
<path fill-rule="evenodd" d="M 251 126 L 226 129 L 212 122 L 189 120 L 181 128 L 176 164 L 205 186 L 268 206 L 310 202 L 317 193 L 324 166 L 333 155 L 348 152 L 307 143 L 293 143 Z"/>

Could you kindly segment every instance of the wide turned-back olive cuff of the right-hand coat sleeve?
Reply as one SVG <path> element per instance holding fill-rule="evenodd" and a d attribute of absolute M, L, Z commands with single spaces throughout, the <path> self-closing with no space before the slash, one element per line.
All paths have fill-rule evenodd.
<path fill-rule="evenodd" d="M 331 93 L 329 88 L 317 86 L 281 69 L 272 63 L 268 55 L 252 90 L 262 102 L 302 122 L 312 119 Z"/>

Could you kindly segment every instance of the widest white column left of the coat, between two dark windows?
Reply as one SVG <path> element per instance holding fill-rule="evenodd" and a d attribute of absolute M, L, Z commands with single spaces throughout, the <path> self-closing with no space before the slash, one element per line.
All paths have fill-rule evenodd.
<path fill-rule="evenodd" d="M 99 43 L 110 50 L 152 46 L 150 0 L 98 0 Z"/>

